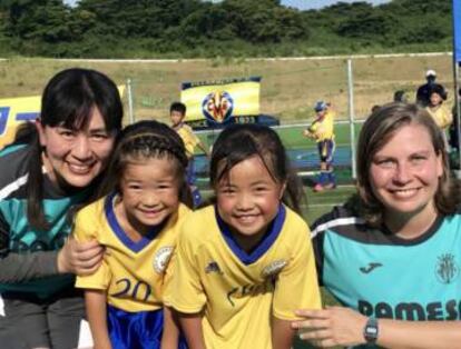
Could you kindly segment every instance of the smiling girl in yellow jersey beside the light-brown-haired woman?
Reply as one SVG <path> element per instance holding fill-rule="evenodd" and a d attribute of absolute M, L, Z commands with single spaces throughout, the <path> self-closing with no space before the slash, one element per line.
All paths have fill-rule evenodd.
<path fill-rule="evenodd" d="M 294 310 L 320 308 L 321 299 L 308 228 L 296 213 L 303 190 L 277 133 L 224 129 L 210 182 L 216 205 L 186 219 L 166 302 L 192 349 L 292 348 Z"/>

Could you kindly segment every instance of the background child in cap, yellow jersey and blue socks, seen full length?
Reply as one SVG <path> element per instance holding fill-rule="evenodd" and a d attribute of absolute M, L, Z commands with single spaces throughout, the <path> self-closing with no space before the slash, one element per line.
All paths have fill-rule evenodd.
<path fill-rule="evenodd" d="M 336 188 L 336 178 L 333 169 L 334 142 L 334 112 L 324 101 L 317 101 L 314 106 L 315 120 L 303 131 L 304 137 L 317 142 L 320 156 L 320 177 L 314 186 L 314 191 Z"/>

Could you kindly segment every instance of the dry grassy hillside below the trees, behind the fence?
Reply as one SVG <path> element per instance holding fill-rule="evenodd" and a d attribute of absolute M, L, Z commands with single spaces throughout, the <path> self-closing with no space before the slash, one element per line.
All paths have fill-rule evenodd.
<path fill-rule="evenodd" d="M 94 68 L 117 83 L 133 82 L 137 119 L 166 120 L 168 106 L 179 99 L 183 81 L 203 81 L 261 76 L 261 112 L 276 114 L 282 122 L 312 117 L 315 100 L 331 101 L 341 118 L 349 117 L 346 60 L 244 60 L 214 59 L 177 62 L 90 62 L 16 58 L 0 61 L 0 98 L 40 94 L 48 79 L 69 67 Z M 435 69 L 439 82 L 452 93 L 452 58 L 369 57 L 353 60 L 354 109 L 365 117 L 374 104 L 392 100 L 399 89 L 414 98 L 426 69 Z"/>

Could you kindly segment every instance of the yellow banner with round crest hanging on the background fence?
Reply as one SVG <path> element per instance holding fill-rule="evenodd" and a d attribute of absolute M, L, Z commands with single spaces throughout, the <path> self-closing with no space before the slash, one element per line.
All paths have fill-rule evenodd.
<path fill-rule="evenodd" d="M 261 77 L 184 82 L 180 100 L 187 107 L 187 121 L 206 119 L 226 123 L 232 117 L 259 114 Z"/>

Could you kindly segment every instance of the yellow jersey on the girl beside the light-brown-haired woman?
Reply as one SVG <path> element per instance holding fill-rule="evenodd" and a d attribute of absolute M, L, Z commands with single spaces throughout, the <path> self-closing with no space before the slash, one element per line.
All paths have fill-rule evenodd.
<path fill-rule="evenodd" d="M 271 315 L 295 320 L 295 309 L 321 307 L 308 227 L 284 206 L 252 253 L 236 245 L 213 206 L 192 213 L 174 276 L 165 303 L 185 313 L 204 310 L 209 349 L 269 349 Z"/>

